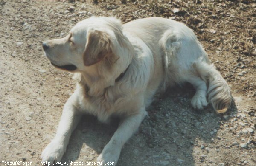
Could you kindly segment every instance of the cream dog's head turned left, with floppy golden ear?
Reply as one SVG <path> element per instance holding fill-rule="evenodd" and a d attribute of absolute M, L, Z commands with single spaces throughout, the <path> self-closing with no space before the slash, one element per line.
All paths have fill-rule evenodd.
<path fill-rule="evenodd" d="M 128 43 L 119 20 L 90 17 L 77 23 L 66 37 L 43 42 L 43 49 L 56 68 L 86 72 L 99 68 L 95 67 L 99 64 L 104 67 L 102 70 L 108 70 L 118 61 L 130 63 L 131 58 L 124 55 L 127 51 L 123 50 L 129 47 Z M 122 66 L 125 69 L 128 65 Z"/>

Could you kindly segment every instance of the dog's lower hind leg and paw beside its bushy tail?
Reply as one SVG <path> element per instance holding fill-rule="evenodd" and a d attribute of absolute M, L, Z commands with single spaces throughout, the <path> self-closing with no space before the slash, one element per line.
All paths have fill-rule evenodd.
<path fill-rule="evenodd" d="M 195 87 L 195 95 L 191 100 L 191 104 L 195 109 L 202 109 L 204 106 L 207 106 L 207 85 L 200 77 L 197 76 L 188 76 L 186 80 Z"/>

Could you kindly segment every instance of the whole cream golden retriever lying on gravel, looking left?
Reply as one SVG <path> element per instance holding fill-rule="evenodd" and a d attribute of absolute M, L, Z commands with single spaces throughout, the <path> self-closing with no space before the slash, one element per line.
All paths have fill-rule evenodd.
<path fill-rule="evenodd" d="M 156 93 L 189 82 L 195 87 L 192 107 L 208 102 L 218 113 L 230 106 L 227 82 L 209 61 L 194 32 L 183 23 L 150 17 L 122 24 L 115 17 L 90 17 L 61 39 L 42 44 L 56 68 L 73 72 L 75 92 L 64 105 L 55 138 L 42 152 L 42 161 L 61 160 L 81 114 L 120 124 L 97 158 L 119 159 L 122 146 L 147 115 Z"/>

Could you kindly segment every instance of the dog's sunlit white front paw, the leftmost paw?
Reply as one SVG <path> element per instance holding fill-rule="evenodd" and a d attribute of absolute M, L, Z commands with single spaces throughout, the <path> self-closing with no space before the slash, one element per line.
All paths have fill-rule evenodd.
<path fill-rule="evenodd" d="M 60 161 L 66 151 L 66 146 L 61 141 L 52 140 L 41 154 L 43 162 Z"/>

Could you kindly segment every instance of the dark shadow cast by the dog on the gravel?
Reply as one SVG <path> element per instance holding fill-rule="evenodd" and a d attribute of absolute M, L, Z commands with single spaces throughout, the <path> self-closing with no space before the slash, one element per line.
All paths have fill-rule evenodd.
<path fill-rule="evenodd" d="M 194 166 L 197 149 L 207 150 L 205 144 L 218 141 L 220 125 L 237 113 L 234 103 L 224 116 L 211 106 L 194 110 L 190 105 L 194 93 L 187 84 L 168 90 L 154 101 L 140 129 L 123 147 L 118 165 Z M 100 124 L 95 117 L 84 116 L 70 138 L 63 161 L 95 160 L 115 130 L 116 125 Z"/>

